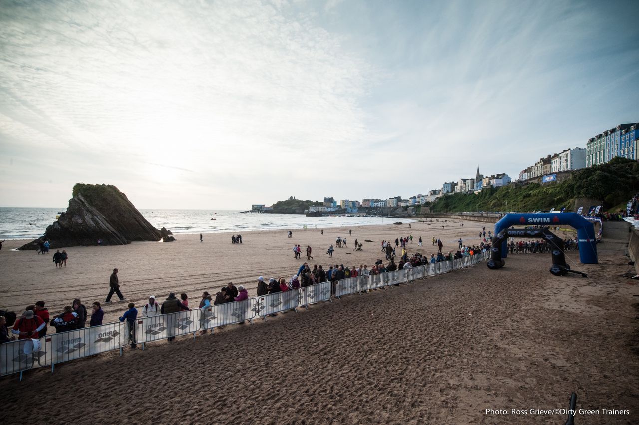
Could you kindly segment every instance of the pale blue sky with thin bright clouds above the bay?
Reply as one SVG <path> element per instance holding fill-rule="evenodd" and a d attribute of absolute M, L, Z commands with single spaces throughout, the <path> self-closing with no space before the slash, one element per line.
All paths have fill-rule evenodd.
<path fill-rule="evenodd" d="M 0 206 L 408 198 L 639 121 L 636 1 L 0 0 Z"/>

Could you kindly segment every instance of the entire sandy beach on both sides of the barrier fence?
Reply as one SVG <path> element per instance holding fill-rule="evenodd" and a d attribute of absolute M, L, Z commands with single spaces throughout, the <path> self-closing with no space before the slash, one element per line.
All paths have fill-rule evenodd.
<path fill-rule="evenodd" d="M 288 276 L 298 267 L 289 254 L 293 242 L 318 246 L 319 264 L 371 264 L 381 239 L 413 234 L 413 251 L 421 234 L 423 252 L 430 253 L 433 235 L 449 250 L 460 235 L 476 243 L 482 224 L 412 227 L 354 228 L 350 238 L 330 230 L 326 239 L 298 230 L 292 241 L 284 232 L 265 232 L 243 235 L 241 246 L 231 245 L 230 235 L 205 235 L 203 244 L 180 236 L 173 244 L 73 248 L 62 271 L 42 255 L 3 250 L 1 303 L 17 308 L 42 298 L 62 306 L 79 296 L 90 304 L 104 297 L 112 267 L 121 270 L 123 291 L 135 302 L 169 290 L 192 292 L 195 300 L 226 281 L 249 283 L 254 294 L 260 274 Z M 349 246 L 356 238 L 375 244 L 362 253 L 337 249 L 328 262 L 325 247 L 344 234 Z M 23 382 L 14 375 L 3 379 L 3 401 L 38 400 L 38 408 L 4 409 L 0 421 L 557 424 L 566 415 L 487 415 L 486 408 L 567 408 L 576 391 L 578 407 L 630 410 L 578 415 L 576 423 L 637 423 L 632 295 L 639 288 L 621 276 L 631 269 L 624 237 L 617 232 L 599 244 L 600 264 L 573 266 L 587 279 L 552 276 L 550 255 L 514 255 L 499 271 L 480 264 L 195 340 L 68 362 L 53 374 L 30 371 Z M 567 257 L 578 261 L 576 252 Z M 123 308 L 107 307 L 107 317 Z"/>

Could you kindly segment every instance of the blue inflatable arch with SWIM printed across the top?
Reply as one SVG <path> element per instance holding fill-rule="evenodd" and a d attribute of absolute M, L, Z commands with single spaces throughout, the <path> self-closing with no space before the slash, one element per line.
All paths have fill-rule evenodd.
<path fill-rule="evenodd" d="M 568 225 L 577 230 L 579 260 L 581 264 L 597 264 L 597 241 L 594 226 L 576 213 L 558 214 L 506 214 L 495 223 L 495 236 L 511 226 L 559 226 Z M 502 244 L 502 258 L 506 258 L 507 241 Z"/>

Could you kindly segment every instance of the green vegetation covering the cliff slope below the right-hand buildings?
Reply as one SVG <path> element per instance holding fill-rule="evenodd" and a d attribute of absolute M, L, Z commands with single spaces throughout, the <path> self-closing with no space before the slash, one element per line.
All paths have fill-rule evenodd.
<path fill-rule="evenodd" d="M 433 213 L 461 211 L 533 211 L 573 209 L 575 198 L 592 198 L 603 209 L 625 204 L 639 191 L 639 162 L 613 158 L 608 163 L 582 168 L 561 183 L 509 184 L 477 193 L 453 193 L 438 198 Z"/>

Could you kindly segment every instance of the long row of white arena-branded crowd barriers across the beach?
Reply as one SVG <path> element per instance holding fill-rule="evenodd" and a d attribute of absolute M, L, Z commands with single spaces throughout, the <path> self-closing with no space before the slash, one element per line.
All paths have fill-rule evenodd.
<path fill-rule="evenodd" d="M 335 295 L 341 298 L 348 294 L 408 283 L 468 267 L 489 257 L 489 252 L 478 253 L 452 262 L 445 261 L 393 272 L 343 279 L 337 282 Z M 205 309 L 138 318 L 135 320 L 134 329 L 132 329 L 134 331 L 132 343 L 142 343 L 142 349 L 144 349 L 145 343 L 151 341 L 186 334 L 193 334 L 195 338 L 196 332 L 201 329 L 214 329 L 218 326 L 242 323 L 246 320 L 250 322 L 258 316 L 266 318 L 268 315 L 289 309 L 297 311 L 298 306 L 308 308 L 309 304 L 331 301 L 330 290 L 331 282 L 326 281 L 300 289 L 276 292 L 245 301 L 227 302 Z M 22 380 L 22 373 L 33 368 L 36 359 L 40 366 L 51 366 L 53 371 L 55 365 L 61 362 L 118 349 L 121 354 L 122 348 L 130 342 L 128 331 L 126 321 L 115 322 L 49 334 L 35 340 L 19 339 L 1 344 L 0 376 L 20 373 L 20 380 Z M 40 348 L 34 351 L 33 348 L 38 348 L 38 342 Z"/>

